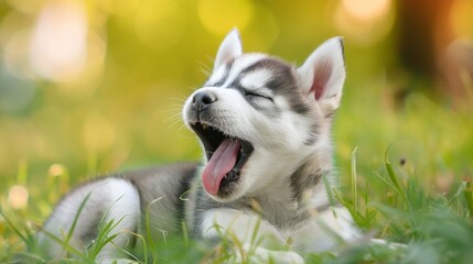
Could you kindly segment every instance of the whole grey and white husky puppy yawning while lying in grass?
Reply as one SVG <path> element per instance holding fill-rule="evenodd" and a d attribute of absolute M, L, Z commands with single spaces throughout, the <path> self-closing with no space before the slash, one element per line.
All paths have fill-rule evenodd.
<path fill-rule="evenodd" d="M 297 67 L 266 54 L 243 53 L 233 30 L 208 80 L 183 107 L 204 161 L 77 187 L 44 223 L 49 235 L 40 232 L 40 243 L 50 257 L 61 257 L 64 249 L 51 234 L 64 238 L 80 205 L 71 246 L 82 250 L 94 241 L 100 220 L 114 220 L 110 233 L 120 233 L 100 251 L 101 263 L 130 262 L 120 258 L 119 248 L 132 244 L 132 232 L 148 233 L 147 213 L 155 239 L 164 231 L 180 232 L 185 222 L 194 238 L 214 241 L 232 234 L 243 249 L 254 250 L 252 261 L 262 263 L 303 263 L 295 252 L 321 252 L 358 238 L 347 210 L 330 205 L 325 186 L 336 184 L 331 123 L 345 80 L 342 38 L 334 37 Z M 283 250 L 288 241 L 293 251 Z"/>

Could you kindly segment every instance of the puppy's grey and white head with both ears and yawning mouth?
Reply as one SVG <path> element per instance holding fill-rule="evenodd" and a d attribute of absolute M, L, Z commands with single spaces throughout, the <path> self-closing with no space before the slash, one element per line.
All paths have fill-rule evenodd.
<path fill-rule="evenodd" d="M 237 30 L 221 44 L 209 79 L 183 109 L 201 140 L 205 190 L 228 201 L 283 183 L 310 158 L 331 156 L 330 123 L 345 79 L 343 43 L 323 43 L 295 67 L 243 53 Z"/>

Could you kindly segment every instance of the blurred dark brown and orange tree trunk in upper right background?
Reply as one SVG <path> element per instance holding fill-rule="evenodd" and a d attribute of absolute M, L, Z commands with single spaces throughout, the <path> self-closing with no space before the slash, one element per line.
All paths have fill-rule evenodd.
<path fill-rule="evenodd" d="M 409 82 L 421 79 L 427 81 L 421 87 L 430 91 L 439 87 L 440 94 L 458 101 L 467 89 L 462 70 L 470 78 L 473 74 L 469 59 L 464 59 L 473 61 L 473 52 L 465 45 L 451 45 L 456 38 L 450 19 L 454 3 L 455 0 L 399 0 L 397 48 L 401 67 L 409 72 Z M 402 100 L 411 87 L 418 84 L 408 84 L 398 99 Z"/>

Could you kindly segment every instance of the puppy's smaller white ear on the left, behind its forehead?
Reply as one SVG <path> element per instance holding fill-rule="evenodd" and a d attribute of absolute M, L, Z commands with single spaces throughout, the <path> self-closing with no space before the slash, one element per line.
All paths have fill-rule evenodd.
<path fill-rule="evenodd" d="M 226 62 L 241 55 L 243 46 L 239 32 L 233 29 L 218 47 L 217 57 L 215 58 L 214 70 Z"/>

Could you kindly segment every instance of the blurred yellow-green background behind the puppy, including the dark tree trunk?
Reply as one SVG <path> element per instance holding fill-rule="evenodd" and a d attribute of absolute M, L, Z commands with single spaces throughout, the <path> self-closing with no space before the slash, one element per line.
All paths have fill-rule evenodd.
<path fill-rule="evenodd" d="M 363 176 L 393 144 L 450 191 L 473 173 L 472 13 L 471 0 L 0 1 L 0 202 L 41 222 L 85 178 L 200 158 L 181 107 L 234 26 L 247 52 L 297 64 L 343 35 L 342 177 L 356 146 Z"/>

